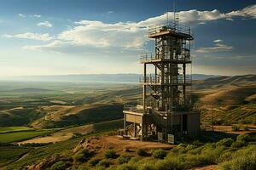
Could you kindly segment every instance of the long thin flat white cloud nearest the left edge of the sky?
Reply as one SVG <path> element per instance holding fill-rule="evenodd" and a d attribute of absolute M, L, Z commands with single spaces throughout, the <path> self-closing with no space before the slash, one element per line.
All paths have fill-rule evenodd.
<path fill-rule="evenodd" d="M 32 32 L 26 32 L 26 33 L 17 34 L 17 35 L 4 34 L 2 37 L 32 39 L 32 40 L 38 40 L 38 41 L 50 41 L 50 40 L 54 39 L 54 37 L 50 37 L 48 33 L 37 34 L 37 33 L 32 33 Z"/>

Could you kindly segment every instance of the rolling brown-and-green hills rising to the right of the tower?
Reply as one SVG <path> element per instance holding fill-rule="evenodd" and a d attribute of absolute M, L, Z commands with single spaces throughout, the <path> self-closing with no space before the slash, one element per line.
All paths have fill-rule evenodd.
<path fill-rule="evenodd" d="M 203 122 L 256 123 L 256 75 L 195 81 Z"/>

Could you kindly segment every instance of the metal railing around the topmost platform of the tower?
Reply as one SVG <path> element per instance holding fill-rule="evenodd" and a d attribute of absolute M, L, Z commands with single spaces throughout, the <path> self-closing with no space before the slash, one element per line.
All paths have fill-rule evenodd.
<path fill-rule="evenodd" d="M 189 26 L 177 25 L 175 22 L 169 22 L 168 25 L 154 25 L 148 27 L 148 35 L 159 33 L 161 31 L 174 31 L 177 33 L 183 33 L 191 35 L 191 30 Z"/>

